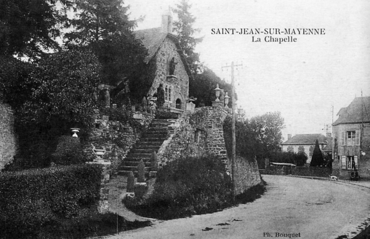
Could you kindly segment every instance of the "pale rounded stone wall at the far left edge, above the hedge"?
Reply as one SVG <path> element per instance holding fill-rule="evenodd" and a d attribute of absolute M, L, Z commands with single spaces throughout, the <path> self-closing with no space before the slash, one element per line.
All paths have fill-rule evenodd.
<path fill-rule="evenodd" d="M 14 132 L 14 116 L 11 107 L 0 103 L 0 171 L 13 161 L 17 150 L 17 138 Z"/>

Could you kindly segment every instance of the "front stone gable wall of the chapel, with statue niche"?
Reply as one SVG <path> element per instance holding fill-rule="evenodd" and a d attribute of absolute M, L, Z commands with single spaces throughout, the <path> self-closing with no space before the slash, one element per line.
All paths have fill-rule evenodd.
<path fill-rule="evenodd" d="M 175 57 L 176 67 L 174 76 L 169 76 L 169 61 Z M 177 52 L 176 44 L 166 37 L 161 44 L 155 58 L 156 73 L 153 85 L 149 94 L 153 96 L 157 93 L 159 84 L 163 84 L 163 89 L 171 89 L 171 96 L 165 101 L 165 106 L 176 107 L 176 99 L 181 100 L 182 110 L 186 110 L 187 98 L 189 97 L 189 76 Z"/>

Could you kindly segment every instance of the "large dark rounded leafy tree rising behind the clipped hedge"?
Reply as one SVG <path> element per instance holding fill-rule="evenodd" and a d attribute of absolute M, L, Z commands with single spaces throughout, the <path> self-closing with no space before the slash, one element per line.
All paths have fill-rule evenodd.
<path fill-rule="evenodd" d="M 15 108 L 19 151 L 10 170 L 48 166 L 61 135 L 93 123 L 99 62 L 91 51 L 60 51 L 32 66 L 16 82 L 30 94 Z"/>

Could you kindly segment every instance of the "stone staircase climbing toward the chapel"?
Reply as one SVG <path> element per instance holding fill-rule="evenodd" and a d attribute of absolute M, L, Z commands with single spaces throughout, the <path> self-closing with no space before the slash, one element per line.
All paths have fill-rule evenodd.
<path fill-rule="evenodd" d="M 167 119 L 153 119 L 146 133 L 141 136 L 124 158 L 122 165 L 118 168 L 118 174 L 127 175 L 132 171 L 136 176 L 137 165 L 142 160 L 145 165 L 145 175 L 155 175 L 156 172 L 151 171 L 151 155 L 153 151 L 158 152 L 163 141 L 168 138 L 168 126 L 172 124 L 170 121 Z"/>

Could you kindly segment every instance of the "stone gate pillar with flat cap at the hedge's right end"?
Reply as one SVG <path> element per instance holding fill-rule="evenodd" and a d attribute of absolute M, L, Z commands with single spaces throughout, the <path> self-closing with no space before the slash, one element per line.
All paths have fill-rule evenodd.
<path fill-rule="evenodd" d="M 100 181 L 100 199 L 98 203 L 98 212 L 101 214 L 108 213 L 109 211 L 109 203 L 108 203 L 108 196 L 109 196 L 109 166 L 110 162 L 86 162 L 86 164 L 97 164 L 103 167 L 103 171 L 101 173 L 101 181 Z"/>

